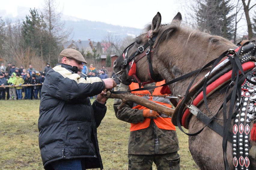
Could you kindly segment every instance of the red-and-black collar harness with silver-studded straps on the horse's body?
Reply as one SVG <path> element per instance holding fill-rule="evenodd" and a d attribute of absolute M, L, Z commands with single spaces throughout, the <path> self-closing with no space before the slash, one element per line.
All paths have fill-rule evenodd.
<path fill-rule="evenodd" d="M 256 56 L 255 56 L 255 52 L 256 52 L 255 41 L 247 42 L 245 46 L 242 46 L 241 48 L 238 48 L 236 49 L 236 51 L 232 52 L 233 56 L 234 54 L 239 53 L 239 59 L 241 62 L 241 67 L 239 69 L 240 70 L 242 69 L 241 72 L 244 71 L 247 73 L 243 74 L 240 80 L 237 80 L 236 85 L 239 87 L 237 87 L 237 91 L 234 94 L 238 94 L 237 92 L 239 92 L 239 89 L 240 89 L 239 93 L 241 94 L 240 94 L 240 97 L 237 96 L 236 102 L 234 101 L 236 105 L 235 113 L 233 113 L 233 115 L 228 115 L 227 120 L 225 119 L 223 120 L 224 126 L 221 126 L 217 122 L 213 121 L 215 119 L 215 116 L 218 113 L 216 115 L 212 115 L 212 118 L 210 118 L 206 114 L 204 114 L 202 111 L 200 111 L 200 109 L 198 109 L 197 106 L 199 106 L 204 100 L 206 100 L 206 97 L 211 95 L 214 91 L 223 87 L 223 85 L 227 84 L 227 82 L 230 82 L 230 79 L 232 80 L 232 76 L 234 76 L 234 73 L 232 73 L 233 68 L 232 66 L 230 66 L 230 62 L 232 63 L 232 61 L 229 61 L 230 57 L 220 62 L 215 68 L 212 69 L 212 72 L 210 71 L 208 74 L 206 74 L 192 88 L 190 87 L 188 88 L 188 91 L 185 97 L 179 102 L 178 106 L 175 109 L 175 113 L 172 116 L 173 120 L 175 120 L 176 118 L 177 122 L 175 121 L 174 122 L 176 123 L 176 125 L 179 126 L 179 128 L 181 128 L 180 126 L 181 124 L 185 128 L 188 128 L 188 121 L 190 119 L 190 114 L 192 113 L 199 120 L 204 122 L 205 126 L 207 125 L 210 128 L 212 128 L 212 130 L 220 134 L 224 140 L 226 138 L 226 140 L 230 141 L 230 143 L 232 143 L 233 165 L 235 167 L 235 170 L 256 169 L 256 161 L 255 161 L 256 146 L 251 146 L 249 143 L 250 132 L 251 132 L 251 140 L 256 140 L 256 134 L 255 134 L 256 123 L 254 123 L 253 125 L 255 129 L 250 129 L 251 122 L 254 122 L 256 120 L 256 68 L 255 68 Z M 233 60 L 233 62 L 234 61 L 235 59 Z M 209 80 L 207 82 L 206 80 L 208 78 Z M 204 85 L 207 84 L 207 86 L 202 87 L 203 84 Z M 230 89 L 233 86 L 235 86 L 235 79 L 233 79 L 233 81 L 231 81 L 231 83 L 223 89 L 224 90 L 226 90 L 227 88 Z M 223 89 L 221 91 L 223 91 Z M 226 92 L 227 91 L 228 90 L 226 90 Z M 225 104 L 229 100 L 231 102 L 232 100 L 235 100 L 235 97 L 232 95 L 227 96 L 226 100 L 224 100 Z M 187 104 L 185 105 L 185 103 Z M 225 105 L 223 104 L 222 107 L 224 109 Z M 207 104 L 206 104 L 206 108 L 208 108 Z M 226 114 L 224 115 L 224 117 L 226 117 Z M 234 122 L 232 132 L 228 131 L 229 126 L 226 125 L 225 127 L 225 121 L 229 125 L 228 121 L 229 119 L 231 121 L 231 118 L 233 118 L 233 122 Z M 199 134 L 202 130 L 203 129 L 201 129 L 199 132 L 195 134 L 188 134 L 188 135 L 193 136 L 193 135 Z M 254 132 L 252 133 L 253 130 Z M 226 158 L 225 157 L 226 147 L 227 147 L 227 141 L 226 141 L 226 144 L 223 142 L 223 150 L 225 150 L 224 159 Z M 251 161 L 251 166 L 249 166 L 250 161 Z M 227 169 L 228 168 L 227 158 L 226 160 L 224 160 L 224 162 L 226 164 L 225 169 Z"/>

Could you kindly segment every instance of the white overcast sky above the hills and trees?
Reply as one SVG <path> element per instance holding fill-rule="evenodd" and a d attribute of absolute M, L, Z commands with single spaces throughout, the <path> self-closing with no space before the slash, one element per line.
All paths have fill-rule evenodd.
<path fill-rule="evenodd" d="M 157 12 L 161 13 L 162 23 L 171 22 L 176 13 L 186 4 L 174 0 L 56 0 L 59 12 L 90 21 L 100 21 L 113 25 L 144 28 Z M 44 0 L 4 0 L 0 12 L 17 16 L 17 7 L 42 8 Z M 29 13 L 29 11 L 28 11 Z M 0 16 L 5 18 L 4 12 Z"/>

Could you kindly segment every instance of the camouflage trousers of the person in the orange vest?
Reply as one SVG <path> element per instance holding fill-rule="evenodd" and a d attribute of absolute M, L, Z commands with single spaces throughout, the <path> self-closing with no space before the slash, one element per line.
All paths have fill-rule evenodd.
<path fill-rule="evenodd" d="M 152 170 L 153 162 L 157 170 L 180 170 L 180 155 L 178 152 L 157 155 L 128 154 L 128 170 Z"/>

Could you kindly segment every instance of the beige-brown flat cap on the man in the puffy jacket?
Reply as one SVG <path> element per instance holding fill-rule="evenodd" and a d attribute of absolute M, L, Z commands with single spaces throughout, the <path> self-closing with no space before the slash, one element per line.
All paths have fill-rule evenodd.
<path fill-rule="evenodd" d="M 62 50 L 59 54 L 59 57 L 67 57 L 87 64 L 84 56 L 78 50 L 74 50 L 72 48 L 66 48 Z"/>

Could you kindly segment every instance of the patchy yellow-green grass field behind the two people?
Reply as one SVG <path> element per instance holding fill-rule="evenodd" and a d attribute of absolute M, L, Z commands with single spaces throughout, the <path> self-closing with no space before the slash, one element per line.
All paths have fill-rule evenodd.
<path fill-rule="evenodd" d="M 98 128 L 100 153 L 104 169 L 125 170 L 130 124 L 117 120 L 113 102 L 114 99 L 108 100 L 106 116 Z M 38 147 L 39 103 L 40 100 L 0 101 L 0 170 L 44 169 Z M 188 149 L 187 135 L 178 129 L 177 134 L 181 169 L 198 169 Z"/>

